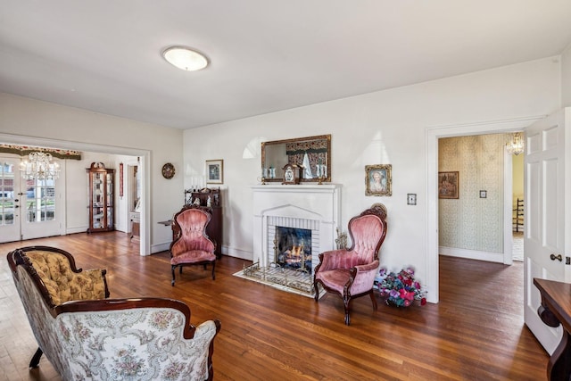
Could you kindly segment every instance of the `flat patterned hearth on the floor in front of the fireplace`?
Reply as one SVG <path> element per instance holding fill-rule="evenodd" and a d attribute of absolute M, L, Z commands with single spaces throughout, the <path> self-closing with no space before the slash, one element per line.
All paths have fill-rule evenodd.
<path fill-rule="evenodd" d="M 307 297 L 314 297 L 313 277 L 305 272 L 280 267 L 260 267 L 258 262 L 234 274 L 235 277 L 252 280 L 263 285 L 272 286 L 282 291 Z M 319 298 L 325 290 L 319 286 Z"/>

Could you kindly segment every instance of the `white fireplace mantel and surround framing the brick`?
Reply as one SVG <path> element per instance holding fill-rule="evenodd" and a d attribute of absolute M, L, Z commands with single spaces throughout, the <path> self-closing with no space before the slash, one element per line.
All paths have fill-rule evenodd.
<path fill-rule="evenodd" d="M 335 249 L 336 232 L 341 222 L 340 185 L 261 185 L 252 186 L 252 194 L 254 262 L 269 265 L 270 217 L 318 221 L 319 253 Z"/>

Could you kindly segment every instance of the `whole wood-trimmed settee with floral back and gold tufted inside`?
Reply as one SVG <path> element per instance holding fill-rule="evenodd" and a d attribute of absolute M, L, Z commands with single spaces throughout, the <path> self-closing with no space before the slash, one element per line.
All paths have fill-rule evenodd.
<path fill-rule="evenodd" d="M 42 353 L 65 380 L 211 379 L 218 320 L 189 324 L 183 302 L 106 299 L 105 270 L 77 269 L 70 253 L 29 246 L 8 264 Z"/>

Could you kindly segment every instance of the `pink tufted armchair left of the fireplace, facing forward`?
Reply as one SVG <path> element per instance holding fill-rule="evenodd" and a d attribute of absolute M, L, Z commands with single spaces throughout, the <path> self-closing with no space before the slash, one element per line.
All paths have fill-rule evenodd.
<path fill-rule="evenodd" d="M 170 244 L 171 286 L 175 286 L 175 269 L 184 266 L 212 265 L 212 279 L 215 279 L 216 243 L 206 236 L 206 226 L 211 214 L 200 206 L 186 205 L 174 217 L 173 240 Z"/>

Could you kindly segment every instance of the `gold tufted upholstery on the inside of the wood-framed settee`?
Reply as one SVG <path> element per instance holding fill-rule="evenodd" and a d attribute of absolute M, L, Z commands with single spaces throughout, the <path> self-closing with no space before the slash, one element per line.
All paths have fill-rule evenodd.
<path fill-rule="evenodd" d="M 37 275 L 46 284 L 54 305 L 62 302 L 104 299 L 105 284 L 101 269 L 75 273 L 65 255 L 34 251 L 26 253 Z"/>

